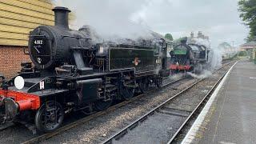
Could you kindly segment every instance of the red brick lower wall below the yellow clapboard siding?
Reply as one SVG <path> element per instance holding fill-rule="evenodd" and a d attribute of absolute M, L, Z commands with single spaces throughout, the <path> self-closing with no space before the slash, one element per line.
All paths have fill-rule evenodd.
<path fill-rule="evenodd" d="M 21 62 L 30 62 L 22 46 L 0 46 L 0 74 L 11 78 L 21 70 Z"/>

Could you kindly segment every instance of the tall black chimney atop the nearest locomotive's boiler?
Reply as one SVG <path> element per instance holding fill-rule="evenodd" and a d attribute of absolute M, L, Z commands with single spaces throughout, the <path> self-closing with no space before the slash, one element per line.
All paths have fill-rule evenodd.
<path fill-rule="evenodd" d="M 69 29 L 69 13 L 70 10 L 66 7 L 56 6 L 54 11 L 55 26 L 61 26 L 65 29 Z"/>

